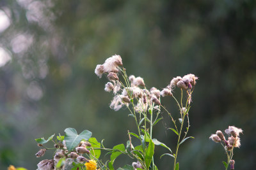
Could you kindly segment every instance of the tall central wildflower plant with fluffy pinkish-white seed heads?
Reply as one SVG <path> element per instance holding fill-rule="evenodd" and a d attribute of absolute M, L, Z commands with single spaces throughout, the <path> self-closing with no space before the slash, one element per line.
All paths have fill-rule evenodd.
<path fill-rule="evenodd" d="M 129 141 L 127 141 L 128 149 L 126 150 L 127 153 L 132 154 L 132 158 L 138 160 L 132 163 L 134 169 L 157 169 L 153 157 L 155 145 L 167 148 L 170 153 L 164 153 L 163 155 L 173 157 L 173 169 L 179 169 L 179 163 L 177 163 L 179 146 L 186 141 L 186 139 L 193 138 L 191 136 L 186 137 L 190 127 L 188 111 L 191 104 L 191 95 L 198 78 L 194 74 L 188 74 L 182 78 L 177 76 L 161 91 L 155 87 L 147 89 L 143 78 L 140 76 L 127 76 L 120 55 L 113 55 L 109 57 L 104 64 L 97 65 L 95 74 L 97 74 L 99 78 L 102 78 L 102 75 L 106 74 L 109 80 L 104 90 L 106 92 L 113 92 L 114 94 L 110 108 L 118 111 L 120 108 L 126 107 L 130 112 L 129 116 L 133 117 L 135 120 L 138 134 L 128 132 Z M 180 103 L 172 94 L 175 87 L 179 88 L 181 92 Z M 184 94 L 186 94 L 186 96 Z M 161 104 L 161 96 L 172 97 L 179 106 L 179 125 L 173 119 L 172 114 Z M 185 102 L 183 101 L 184 98 L 186 98 Z M 170 128 L 170 130 L 175 132 L 178 136 L 175 153 L 172 153 L 172 150 L 164 143 L 152 137 L 154 125 L 162 119 L 162 117 L 159 117 L 162 113 L 162 109 L 168 113 L 175 127 Z M 188 124 L 182 135 L 186 118 Z M 137 138 L 140 141 L 140 145 L 134 147 L 132 145 L 131 136 Z"/>

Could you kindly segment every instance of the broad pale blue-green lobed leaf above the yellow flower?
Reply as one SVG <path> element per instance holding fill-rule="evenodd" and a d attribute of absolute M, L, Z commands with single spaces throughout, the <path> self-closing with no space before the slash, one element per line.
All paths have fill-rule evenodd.
<path fill-rule="evenodd" d="M 67 128 L 65 129 L 65 141 L 68 151 L 74 149 L 82 139 L 88 140 L 92 136 L 92 132 L 84 130 L 81 134 L 77 134 L 76 129 Z"/>

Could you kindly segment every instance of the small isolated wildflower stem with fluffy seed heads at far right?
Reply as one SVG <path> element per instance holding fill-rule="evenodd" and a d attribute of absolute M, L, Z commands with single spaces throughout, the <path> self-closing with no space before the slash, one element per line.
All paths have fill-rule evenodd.
<path fill-rule="evenodd" d="M 235 169 L 235 161 L 232 160 L 234 156 L 234 148 L 239 148 L 241 146 L 239 134 L 243 132 L 242 129 L 239 129 L 234 126 L 228 126 L 228 129 L 225 130 L 225 133 L 228 136 L 228 140 L 225 139 L 225 136 L 221 131 L 216 131 L 216 134 L 212 134 L 210 139 L 216 143 L 221 143 L 227 154 L 227 162 L 223 161 L 225 169 L 228 169 L 230 164 L 230 169 Z"/>

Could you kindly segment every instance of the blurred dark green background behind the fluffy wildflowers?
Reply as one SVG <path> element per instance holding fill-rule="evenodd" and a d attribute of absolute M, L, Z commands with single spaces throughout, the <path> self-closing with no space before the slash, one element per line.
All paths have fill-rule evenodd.
<path fill-rule="evenodd" d="M 224 150 L 209 136 L 228 125 L 244 130 L 236 169 L 256 166 L 256 1 L 1 0 L 0 169 L 36 169 L 52 153 L 37 159 L 34 139 L 67 127 L 92 131 L 108 148 L 126 143 L 134 120 L 109 108 L 108 80 L 94 73 L 114 54 L 147 88 L 199 76 L 189 113 L 195 139 L 182 144 L 180 169 L 224 169 Z M 173 100 L 163 103 L 178 114 Z M 174 150 L 163 117 L 154 137 Z M 172 158 L 159 159 L 165 152 L 157 147 L 155 162 L 172 169 Z M 116 167 L 132 161 L 120 157 Z"/>

